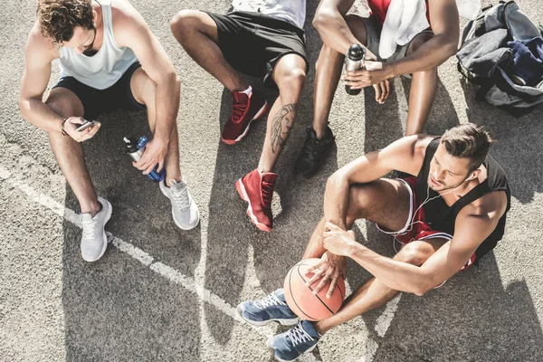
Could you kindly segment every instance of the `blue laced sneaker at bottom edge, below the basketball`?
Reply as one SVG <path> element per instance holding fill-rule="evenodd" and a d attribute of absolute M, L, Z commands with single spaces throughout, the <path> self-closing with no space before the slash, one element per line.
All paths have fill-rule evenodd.
<path fill-rule="evenodd" d="M 290 330 L 271 337 L 266 342 L 273 356 L 281 362 L 291 362 L 317 347 L 319 333 L 313 323 L 302 320 Z"/>

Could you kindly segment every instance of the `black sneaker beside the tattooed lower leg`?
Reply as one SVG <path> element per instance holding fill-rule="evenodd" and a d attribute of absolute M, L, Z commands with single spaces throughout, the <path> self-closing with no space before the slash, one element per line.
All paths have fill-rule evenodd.
<path fill-rule="evenodd" d="M 327 126 L 326 135 L 323 138 L 317 138 L 317 133 L 314 129 L 307 129 L 308 136 L 301 148 L 300 156 L 296 160 L 294 173 L 296 175 L 310 178 L 315 176 L 319 171 L 320 165 L 324 160 L 327 152 L 332 148 L 334 135 L 332 130 Z"/>

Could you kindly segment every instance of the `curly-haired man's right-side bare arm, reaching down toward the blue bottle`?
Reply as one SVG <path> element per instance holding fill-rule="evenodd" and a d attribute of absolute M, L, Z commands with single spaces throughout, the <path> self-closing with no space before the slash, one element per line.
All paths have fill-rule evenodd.
<path fill-rule="evenodd" d="M 157 83 L 155 106 L 157 120 L 154 138 L 168 143 L 179 109 L 180 84 L 176 69 L 148 24 L 131 5 L 114 9 L 114 35 L 119 46 L 134 51 L 142 68 Z"/>

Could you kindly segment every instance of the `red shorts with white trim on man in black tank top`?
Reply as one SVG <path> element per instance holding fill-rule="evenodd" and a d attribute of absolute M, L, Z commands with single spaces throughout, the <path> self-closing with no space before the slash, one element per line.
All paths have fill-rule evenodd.
<path fill-rule="evenodd" d="M 443 233 L 439 230 L 433 230 L 429 224 L 426 224 L 424 217 L 424 208 L 421 207 L 421 204 L 424 200 L 417 200 L 414 195 L 414 187 L 416 185 L 416 177 L 410 176 L 407 178 L 397 178 L 399 181 L 402 181 L 407 186 L 409 190 L 409 216 L 405 222 L 405 226 L 398 230 L 397 232 L 392 232 L 387 230 L 386 227 L 376 224 L 377 229 L 383 233 L 392 235 L 395 237 L 395 240 L 405 245 L 406 243 L 411 243 L 417 240 L 428 240 L 428 239 L 445 239 L 452 240 L 452 235 L 450 233 Z M 475 262 L 476 256 L 473 253 L 472 257 L 466 264 L 462 267 L 461 271 L 472 266 Z"/>

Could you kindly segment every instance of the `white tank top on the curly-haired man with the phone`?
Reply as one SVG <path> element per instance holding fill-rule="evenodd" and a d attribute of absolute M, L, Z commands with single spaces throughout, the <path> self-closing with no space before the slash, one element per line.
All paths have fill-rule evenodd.
<path fill-rule="evenodd" d="M 73 77 L 97 90 L 110 88 L 138 59 L 128 47 L 121 48 L 113 38 L 111 0 L 100 1 L 103 42 L 100 51 L 88 57 L 73 49 L 61 48 L 61 78 Z"/>

